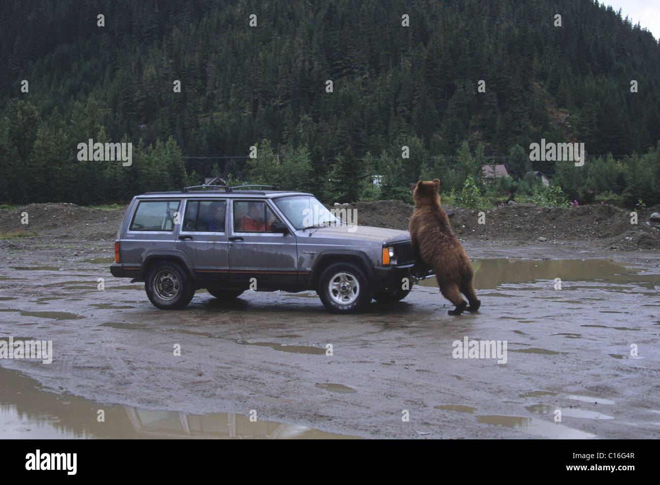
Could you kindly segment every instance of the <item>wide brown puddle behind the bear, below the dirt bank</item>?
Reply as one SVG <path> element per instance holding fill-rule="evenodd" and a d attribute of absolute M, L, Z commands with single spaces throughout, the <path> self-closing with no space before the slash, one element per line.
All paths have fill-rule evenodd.
<path fill-rule="evenodd" d="M 629 283 L 649 289 L 660 286 L 660 275 L 640 275 L 641 268 L 627 268 L 609 259 L 518 260 L 492 258 L 472 260 L 472 266 L 475 269 L 476 289 L 494 289 L 508 283 L 535 283 L 537 281 L 545 281 L 546 286 L 552 288 L 555 278 L 562 279 L 563 289 L 561 291 L 569 289 L 572 281 Z M 425 279 L 420 282 L 420 285 L 438 286 L 435 278 Z M 630 287 L 623 288 L 631 289 Z M 557 292 L 559 295 L 560 290 Z M 505 295 L 488 293 L 484 296 Z"/>

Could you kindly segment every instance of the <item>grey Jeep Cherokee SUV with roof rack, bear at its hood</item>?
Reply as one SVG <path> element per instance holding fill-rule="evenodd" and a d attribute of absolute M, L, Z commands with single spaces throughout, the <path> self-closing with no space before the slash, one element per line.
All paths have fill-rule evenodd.
<path fill-rule="evenodd" d="M 246 289 L 313 289 L 336 313 L 359 312 L 372 299 L 401 300 L 418 276 L 407 231 L 350 225 L 312 194 L 270 186 L 134 197 L 110 270 L 144 281 L 163 309 L 183 308 L 202 288 L 218 299 Z"/>

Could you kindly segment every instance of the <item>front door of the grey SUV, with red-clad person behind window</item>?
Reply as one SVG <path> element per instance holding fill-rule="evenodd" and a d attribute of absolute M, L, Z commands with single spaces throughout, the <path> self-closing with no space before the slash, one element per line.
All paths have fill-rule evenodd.
<path fill-rule="evenodd" d="M 231 202 L 229 270 L 232 280 L 257 289 L 286 289 L 298 281 L 296 237 L 273 233 L 273 222 L 283 220 L 267 199 L 239 199 Z M 252 280 L 252 278 L 255 278 Z"/>

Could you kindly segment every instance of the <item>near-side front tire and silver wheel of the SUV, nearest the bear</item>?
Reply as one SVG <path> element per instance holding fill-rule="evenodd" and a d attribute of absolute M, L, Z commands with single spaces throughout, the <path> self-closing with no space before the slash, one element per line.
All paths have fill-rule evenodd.
<path fill-rule="evenodd" d="M 321 273 L 316 293 L 331 312 L 349 314 L 364 310 L 372 300 L 374 287 L 359 266 L 335 263 Z"/>

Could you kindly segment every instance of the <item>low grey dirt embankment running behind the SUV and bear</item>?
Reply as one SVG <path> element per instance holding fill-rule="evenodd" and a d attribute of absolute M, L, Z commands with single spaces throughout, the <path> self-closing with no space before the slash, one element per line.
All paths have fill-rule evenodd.
<path fill-rule="evenodd" d="M 357 212 L 359 225 L 408 229 L 413 206 L 394 200 L 357 202 L 350 205 Z M 450 207 L 446 206 L 446 209 Z M 660 224 L 649 216 L 660 206 L 642 210 L 638 223 L 630 223 L 630 212 L 609 205 L 578 208 L 539 208 L 515 204 L 497 209 L 456 209 L 451 225 L 460 239 L 467 241 L 508 241 L 514 243 L 562 244 L 583 241 L 598 249 L 657 250 L 660 248 Z M 21 223 L 28 213 L 27 225 Z M 17 210 L 0 210 L 0 232 L 10 237 L 0 244 L 17 243 L 16 233 L 36 233 L 34 237 L 84 241 L 112 241 L 125 208 L 89 209 L 75 204 L 30 204 Z M 485 217 L 480 217 L 483 212 Z M 479 223 L 480 219 L 483 223 Z M 24 238 L 20 238 L 25 241 Z"/>

